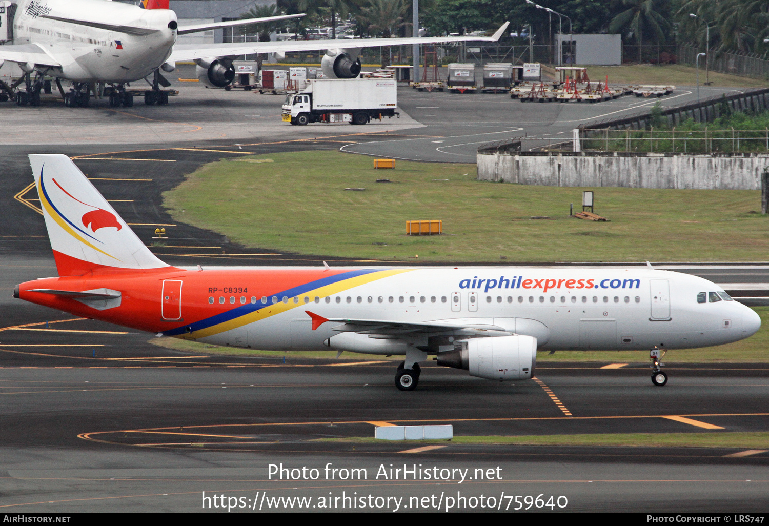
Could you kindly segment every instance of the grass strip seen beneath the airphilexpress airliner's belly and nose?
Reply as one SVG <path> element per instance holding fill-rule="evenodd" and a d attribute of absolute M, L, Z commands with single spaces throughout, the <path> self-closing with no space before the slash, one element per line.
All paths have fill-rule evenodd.
<path fill-rule="evenodd" d="M 761 329 L 747 338 L 728 345 L 668 351 L 664 357 L 667 366 L 687 363 L 766 363 L 769 361 L 769 307 L 754 308 L 761 315 Z M 259 351 L 258 349 L 238 349 L 205 345 L 195 341 L 178 338 L 153 338 L 151 343 L 177 351 L 205 353 L 206 355 L 255 356 L 261 358 L 336 358 L 336 351 Z M 341 355 L 345 360 L 360 361 L 401 361 L 402 356 L 385 358 L 380 355 L 360 355 L 346 352 Z M 538 364 L 548 362 L 582 361 L 586 363 L 648 363 L 647 351 L 556 351 L 550 355 L 547 351 L 537 353 Z"/>

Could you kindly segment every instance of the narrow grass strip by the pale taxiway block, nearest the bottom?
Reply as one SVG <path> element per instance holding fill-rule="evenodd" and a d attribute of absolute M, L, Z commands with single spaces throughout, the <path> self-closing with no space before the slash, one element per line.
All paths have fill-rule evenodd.
<path fill-rule="evenodd" d="M 358 444 L 387 444 L 389 441 L 371 437 L 316 438 L 318 442 L 351 442 Z M 404 442 L 410 447 L 420 444 L 449 444 L 445 440 L 414 440 Z M 522 436 L 455 436 L 451 444 L 515 444 L 624 446 L 634 448 L 756 448 L 769 449 L 769 432 L 726 433 L 601 433 L 601 434 L 542 434 Z"/>

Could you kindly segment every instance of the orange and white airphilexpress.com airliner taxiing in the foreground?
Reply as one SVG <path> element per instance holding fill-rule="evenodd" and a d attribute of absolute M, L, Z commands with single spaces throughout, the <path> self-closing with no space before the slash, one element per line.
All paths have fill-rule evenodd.
<path fill-rule="evenodd" d="M 403 355 L 494 381 L 534 377 L 537 351 L 739 341 L 758 315 L 697 276 L 647 267 L 175 267 L 158 259 L 65 155 L 29 155 L 58 277 L 15 298 L 205 344 Z"/>

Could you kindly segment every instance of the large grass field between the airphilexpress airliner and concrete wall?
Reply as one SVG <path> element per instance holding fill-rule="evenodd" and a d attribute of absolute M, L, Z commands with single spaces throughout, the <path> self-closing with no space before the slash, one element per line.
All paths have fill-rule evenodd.
<path fill-rule="evenodd" d="M 757 213 L 758 191 L 592 188 L 596 213 L 611 220 L 603 223 L 569 217 L 569 203 L 578 210 L 584 188 L 475 176 L 475 165 L 398 161 L 395 170 L 375 171 L 363 155 L 291 152 L 205 165 L 164 197 L 176 221 L 247 247 L 330 258 L 508 263 L 769 255 L 769 218 Z M 408 219 L 442 219 L 444 235 L 407 236 Z"/>

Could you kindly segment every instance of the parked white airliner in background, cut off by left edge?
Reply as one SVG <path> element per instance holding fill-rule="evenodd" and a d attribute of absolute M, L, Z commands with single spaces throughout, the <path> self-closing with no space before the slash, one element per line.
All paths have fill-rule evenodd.
<path fill-rule="evenodd" d="M 14 86 L 5 86 L 3 98 L 14 97 L 19 105 L 39 105 L 44 76 L 56 79 L 68 106 L 87 106 L 94 85 L 108 84 L 112 106 L 133 105 L 129 82 L 152 76 L 145 104 L 165 104 L 160 85 L 170 83 L 159 70 L 173 72 L 176 62 L 194 61 L 198 79 L 211 88 L 223 88 L 235 78 L 232 61 L 250 53 L 277 53 L 326 49 L 321 67 L 328 78 L 355 78 L 361 72 L 361 48 L 437 44 L 446 42 L 497 42 L 509 22 L 491 37 L 365 38 L 336 41 L 243 42 L 225 44 L 176 45 L 178 35 L 215 28 L 269 22 L 304 16 L 280 15 L 230 22 L 179 25 L 168 0 L 144 0 L 130 5 L 107 0 L 20 0 L 9 5 L 5 16 L 12 28 L 12 43 L 0 45 L 2 61 L 17 62 L 25 72 Z M 3 7 L 3 11 L 5 7 Z M 32 78 L 32 74 L 35 78 Z M 61 80 L 72 81 L 65 93 Z M 25 83 L 25 91 L 14 91 Z M 148 81 L 149 82 L 149 81 Z"/>

